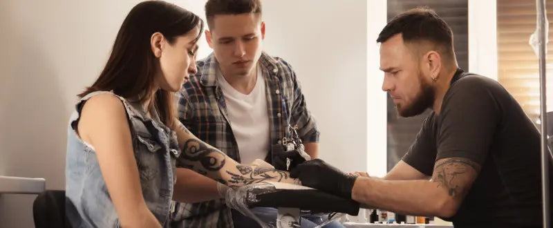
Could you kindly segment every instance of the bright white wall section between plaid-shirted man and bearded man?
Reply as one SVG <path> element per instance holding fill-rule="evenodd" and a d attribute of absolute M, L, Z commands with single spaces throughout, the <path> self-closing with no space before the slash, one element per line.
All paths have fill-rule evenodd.
<path fill-rule="evenodd" d="M 366 1 L 263 3 L 265 50 L 294 67 L 321 131 L 320 157 L 366 170 Z"/>

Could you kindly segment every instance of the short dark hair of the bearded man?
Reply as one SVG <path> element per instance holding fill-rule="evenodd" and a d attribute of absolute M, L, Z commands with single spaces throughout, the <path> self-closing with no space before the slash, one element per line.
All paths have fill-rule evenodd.
<path fill-rule="evenodd" d="M 386 24 L 376 41 L 382 43 L 400 33 L 404 42 L 431 41 L 442 46 L 446 52 L 442 54 L 454 56 L 453 32 L 434 10 L 424 7 L 402 12 Z"/>

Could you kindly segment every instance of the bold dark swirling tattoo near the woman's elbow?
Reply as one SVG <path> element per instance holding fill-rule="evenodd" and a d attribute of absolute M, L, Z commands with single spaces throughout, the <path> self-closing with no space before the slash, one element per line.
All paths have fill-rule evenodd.
<path fill-rule="evenodd" d="M 225 157 L 223 152 L 209 148 L 205 142 L 195 139 L 190 139 L 185 142 L 184 146 L 182 146 L 182 154 L 180 155 L 180 159 L 187 160 L 184 163 L 200 162 L 201 167 L 199 171 L 201 171 L 201 169 L 206 169 L 208 171 L 220 170 L 225 166 Z"/>

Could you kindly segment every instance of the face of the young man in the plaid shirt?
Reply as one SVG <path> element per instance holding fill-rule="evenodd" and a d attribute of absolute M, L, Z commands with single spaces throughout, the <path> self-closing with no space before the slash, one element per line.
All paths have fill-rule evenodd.
<path fill-rule="evenodd" d="M 249 75 L 256 68 L 265 38 L 265 23 L 260 17 L 254 13 L 214 16 L 213 28 L 205 37 L 225 76 Z"/>

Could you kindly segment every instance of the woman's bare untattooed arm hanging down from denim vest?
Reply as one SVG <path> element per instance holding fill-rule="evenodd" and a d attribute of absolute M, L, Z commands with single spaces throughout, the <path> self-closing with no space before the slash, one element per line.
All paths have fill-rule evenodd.
<path fill-rule="evenodd" d="M 121 100 L 111 94 L 89 99 L 82 108 L 77 130 L 82 140 L 94 146 L 122 227 L 161 227 L 142 196 L 131 131 Z"/>

